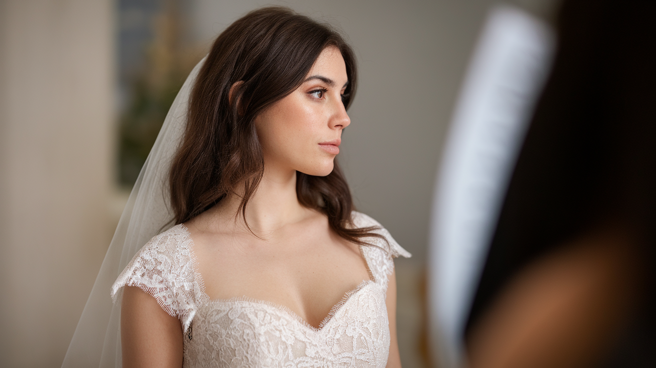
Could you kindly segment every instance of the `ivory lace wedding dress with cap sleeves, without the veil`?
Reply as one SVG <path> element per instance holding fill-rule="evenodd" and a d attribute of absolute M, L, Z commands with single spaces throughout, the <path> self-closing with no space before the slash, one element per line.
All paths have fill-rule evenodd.
<path fill-rule="evenodd" d="M 380 226 L 354 212 L 358 227 Z M 210 300 L 196 272 L 193 242 L 182 225 L 151 239 L 112 286 L 125 285 L 154 296 L 184 331 L 183 367 L 384 367 L 390 349 L 385 296 L 392 256 L 409 257 L 390 233 L 390 244 L 360 247 L 372 281 L 364 281 L 334 306 L 319 328 L 284 306 L 250 298 Z"/>

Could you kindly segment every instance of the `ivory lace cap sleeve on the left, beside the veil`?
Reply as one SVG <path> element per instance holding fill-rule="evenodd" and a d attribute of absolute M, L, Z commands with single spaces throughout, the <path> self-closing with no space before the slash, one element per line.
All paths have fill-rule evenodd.
<path fill-rule="evenodd" d="M 202 295 L 190 247 L 191 238 L 182 225 L 155 235 L 112 285 L 114 302 L 121 287 L 139 287 L 154 296 L 169 315 L 180 319 L 186 332 L 197 310 L 197 299 Z"/>

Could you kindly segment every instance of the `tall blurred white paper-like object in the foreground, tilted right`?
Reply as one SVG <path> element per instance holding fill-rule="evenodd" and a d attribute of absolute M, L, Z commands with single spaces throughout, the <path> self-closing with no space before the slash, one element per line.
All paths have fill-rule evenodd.
<path fill-rule="evenodd" d="M 430 333 L 440 367 L 465 365 L 463 334 L 554 35 L 522 10 L 495 7 L 462 85 L 430 224 Z"/>

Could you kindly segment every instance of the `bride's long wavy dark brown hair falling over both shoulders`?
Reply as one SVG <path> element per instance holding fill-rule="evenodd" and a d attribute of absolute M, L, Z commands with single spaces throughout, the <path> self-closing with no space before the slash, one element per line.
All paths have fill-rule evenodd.
<path fill-rule="evenodd" d="M 348 109 L 357 86 L 356 59 L 330 26 L 287 8 L 267 7 L 249 12 L 216 38 L 191 92 L 184 139 L 171 166 L 176 224 L 229 194 L 241 195 L 245 220 L 246 203 L 264 173 L 255 118 L 297 89 L 326 47 L 336 47 L 344 58 Z M 337 161 L 327 176 L 297 172 L 296 189 L 301 205 L 327 215 L 340 237 L 360 245 L 367 245 L 361 237 L 384 239 L 372 233 L 375 227 L 355 228 L 352 197 Z"/>

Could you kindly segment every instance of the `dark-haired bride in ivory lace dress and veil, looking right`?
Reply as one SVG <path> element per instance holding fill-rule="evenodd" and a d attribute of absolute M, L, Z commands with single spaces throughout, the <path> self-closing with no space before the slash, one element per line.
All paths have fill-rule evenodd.
<path fill-rule="evenodd" d="M 221 33 L 167 115 L 64 366 L 85 352 L 123 367 L 400 367 L 392 256 L 409 253 L 353 211 L 335 161 L 356 78 L 342 37 L 289 9 Z M 112 271 L 112 312 L 94 312 Z M 93 323 L 105 338 L 85 350 Z"/>

